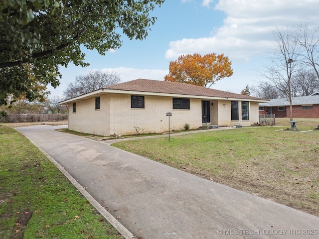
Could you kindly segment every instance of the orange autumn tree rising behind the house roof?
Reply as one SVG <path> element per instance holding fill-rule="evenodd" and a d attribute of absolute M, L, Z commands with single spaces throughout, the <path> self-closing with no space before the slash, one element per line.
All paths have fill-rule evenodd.
<path fill-rule="evenodd" d="M 201 56 L 181 55 L 169 63 L 169 73 L 165 81 L 183 82 L 191 85 L 211 87 L 216 81 L 233 74 L 231 61 L 224 54 L 216 53 Z"/>

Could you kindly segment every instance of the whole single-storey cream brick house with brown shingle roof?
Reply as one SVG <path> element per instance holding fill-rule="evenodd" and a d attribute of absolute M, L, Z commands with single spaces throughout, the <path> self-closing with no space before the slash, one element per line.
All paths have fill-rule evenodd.
<path fill-rule="evenodd" d="M 137 79 L 60 102 L 69 109 L 70 130 L 99 135 L 134 134 L 203 124 L 250 126 L 259 121 L 258 104 L 268 100 L 185 83 Z"/>

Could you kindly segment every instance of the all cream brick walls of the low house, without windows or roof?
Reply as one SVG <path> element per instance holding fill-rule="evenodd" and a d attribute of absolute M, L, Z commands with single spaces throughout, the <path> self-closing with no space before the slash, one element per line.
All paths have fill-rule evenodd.
<path fill-rule="evenodd" d="M 144 133 L 164 132 L 168 131 L 166 112 L 172 113 L 170 130 L 183 129 L 185 123 L 190 125 L 190 129 L 202 125 L 201 99 L 190 99 L 190 110 L 173 110 L 172 97 L 144 97 L 144 109 L 131 109 L 129 94 L 101 95 L 100 110 L 95 110 L 95 98 L 76 102 L 76 113 L 72 113 L 72 104 L 69 104 L 69 129 L 98 135 L 135 134 L 135 127 L 144 129 Z M 239 108 L 241 112 L 240 101 Z M 250 120 L 232 121 L 230 101 L 210 101 L 210 124 L 250 126 L 253 122 L 258 122 L 258 103 L 250 103 L 249 114 Z"/>

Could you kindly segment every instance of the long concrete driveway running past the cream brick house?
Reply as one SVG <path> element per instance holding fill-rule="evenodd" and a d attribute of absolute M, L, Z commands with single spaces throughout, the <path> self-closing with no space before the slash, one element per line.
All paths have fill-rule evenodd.
<path fill-rule="evenodd" d="M 319 218 L 105 142 L 16 128 L 138 239 L 318 238 Z M 65 127 L 65 126 L 62 126 Z"/>

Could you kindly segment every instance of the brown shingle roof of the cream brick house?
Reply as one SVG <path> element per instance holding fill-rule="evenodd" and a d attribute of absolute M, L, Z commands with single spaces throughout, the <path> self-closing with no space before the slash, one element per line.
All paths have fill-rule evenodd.
<path fill-rule="evenodd" d="M 103 89 L 109 90 L 123 90 L 123 91 L 137 91 L 137 92 L 153 92 L 153 93 L 168 93 L 191 96 L 207 96 L 207 97 L 221 97 L 221 98 L 235 98 L 235 99 L 249 99 L 249 100 L 264 100 L 256 97 L 230 93 L 226 91 L 219 91 L 215 89 L 205 88 L 201 86 L 190 85 L 186 83 L 169 82 L 169 81 L 155 81 L 147 79 L 137 79 L 129 82 L 124 82 Z M 268 101 L 268 100 L 265 100 Z"/>

